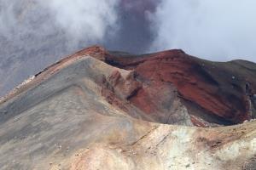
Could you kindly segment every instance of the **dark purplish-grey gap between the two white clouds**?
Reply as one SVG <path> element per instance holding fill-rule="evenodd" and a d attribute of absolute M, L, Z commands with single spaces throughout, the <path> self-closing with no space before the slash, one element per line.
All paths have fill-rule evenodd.
<path fill-rule="evenodd" d="M 135 54 L 148 52 L 154 40 L 148 14 L 154 14 L 160 0 L 121 0 L 117 8 L 119 29 L 103 45 Z"/>

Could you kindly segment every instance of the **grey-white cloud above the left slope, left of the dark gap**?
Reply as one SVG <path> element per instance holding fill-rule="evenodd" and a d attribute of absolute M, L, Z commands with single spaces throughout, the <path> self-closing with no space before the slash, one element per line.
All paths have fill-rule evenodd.
<path fill-rule="evenodd" d="M 0 96 L 61 57 L 110 37 L 119 0 L 0 0 Z"/>

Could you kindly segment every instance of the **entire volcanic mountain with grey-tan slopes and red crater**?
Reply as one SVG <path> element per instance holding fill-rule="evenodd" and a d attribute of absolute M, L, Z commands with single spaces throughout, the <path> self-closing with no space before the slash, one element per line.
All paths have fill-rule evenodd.
<path fill-rule="evenodd" d="M 255 76 L 182 50 L 85 48 L 0 101 L 0 167 L 256 168 Z"/>

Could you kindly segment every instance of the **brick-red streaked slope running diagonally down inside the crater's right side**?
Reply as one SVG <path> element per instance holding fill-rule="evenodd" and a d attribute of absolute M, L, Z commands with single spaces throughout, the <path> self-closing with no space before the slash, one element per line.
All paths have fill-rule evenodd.
<path fill-rule="evenodd" d="M 136 71 L 142 77 L 159 82 L 157 86 L 160 82 L 172 83 L 183 99 L 199 105 L 213 116 L 235 123 L 248 118 L 247 101 L 242 96 L 234 101 L 225 99 L 232 94 L 221 92 L 218 81 L 185 54 L 163 54 L 138 65 Z"/>

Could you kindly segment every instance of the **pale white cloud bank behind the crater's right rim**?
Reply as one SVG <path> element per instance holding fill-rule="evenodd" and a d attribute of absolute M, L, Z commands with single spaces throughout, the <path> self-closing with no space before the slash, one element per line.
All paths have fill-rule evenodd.
<path fill-rule="evenodd" d="M 256 61 L 256 1 L 162 0 L 151 14 L 151 50 L 182 48 L 205 59 Z"/>

